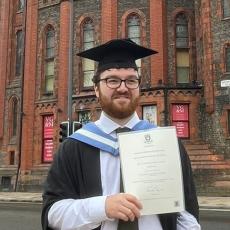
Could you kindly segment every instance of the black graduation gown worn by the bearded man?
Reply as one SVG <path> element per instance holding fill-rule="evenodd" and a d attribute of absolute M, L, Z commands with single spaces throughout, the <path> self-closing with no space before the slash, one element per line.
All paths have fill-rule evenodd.
<path fill-rule="evenodd" d="M 199 208 L 188 155 L 179 141 L 185 206 L 198 220 Z M 43 192 L 42 227 L 48 227 L 48 211 L 62 199 L 82 199 L 102 195 L 100 150 L 74 139 L 64 141 L 48 172 Z M 176 230 L 177 213 L 159 215 L 164 230 Z M 97 228 L 98 230 L 100 227 Z"/>

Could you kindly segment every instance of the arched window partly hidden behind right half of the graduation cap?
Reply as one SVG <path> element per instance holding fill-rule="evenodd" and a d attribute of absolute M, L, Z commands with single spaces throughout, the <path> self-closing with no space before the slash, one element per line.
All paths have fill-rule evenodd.
<path fill-rule="evenodd" d="M 141 43 L 141 26 L 140 26 L 140 17 L 136 14 L 131 14 L 127 19 L 127 34 L 135 43 Z M 138 72 L 141 71 L 141 59 L 136 60 L 136 65 L 138 67 Z"/>

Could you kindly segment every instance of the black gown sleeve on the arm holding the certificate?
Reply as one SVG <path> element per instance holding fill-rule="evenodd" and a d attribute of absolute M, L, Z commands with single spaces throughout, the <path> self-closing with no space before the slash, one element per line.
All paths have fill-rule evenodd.
<path fill-rule="evenodd" d="M 44 184 L 43 230 L 52 230 L 48 226 L 48 212 L 55 202 L 101 195 L 100 170 L 97 170 L 100 158 L 95 151 L 98 152 L 70 138 L 59 146 Z"/>

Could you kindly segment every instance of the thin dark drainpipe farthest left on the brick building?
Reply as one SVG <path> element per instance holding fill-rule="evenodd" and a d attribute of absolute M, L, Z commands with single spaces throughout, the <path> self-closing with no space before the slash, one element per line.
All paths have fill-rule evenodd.
<path fill-rule="evenodd" d="M 22 55 L 22 72 L 21 72 L 21 103 L 20 103 L 20 122 L 19 122 L 19 136 L 18 136 L 18 165 L 17 165 L 17 172 L 16 172 L 16 179 L 14 184 L 14 191 L 17 191 L 18 188 L 18 178 L 20 174 L 21 168 L 21 156 L 22 156 L 22 123 L 23 123 L 23 90 L 24 90 L 24 69 L 25 69 L 25 41 L 26 41 L 26 15 L 27 15 L 27 0 L 24 2 L 24 9 L 23 9 L 23 55 Z"/>

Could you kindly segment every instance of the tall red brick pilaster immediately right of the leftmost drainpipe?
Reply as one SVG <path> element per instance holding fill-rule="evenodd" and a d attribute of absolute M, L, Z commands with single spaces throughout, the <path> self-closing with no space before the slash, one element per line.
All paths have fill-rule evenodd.
<path fill-rule="evenodd" d="M 38 1 L 27 1 L 25 33 L 25 67 L 23 90 L 23 121 L 21 172 L 26 174 L 33 165 L 34 149 L 34 116 L 36 91 L 36 57 L 37 57 L 37 21 Z"/>

